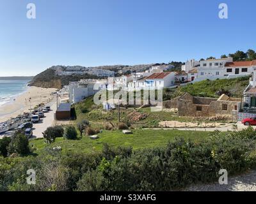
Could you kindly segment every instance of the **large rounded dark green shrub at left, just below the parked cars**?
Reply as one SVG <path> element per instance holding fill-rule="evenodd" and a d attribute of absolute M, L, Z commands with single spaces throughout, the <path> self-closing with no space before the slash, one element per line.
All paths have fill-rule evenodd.
<path fill-rule="evenodd" d="M 29 142 L 28 138 L 22 133 L 14 133 L 11 142 L 8 145 L 8 154 L 19 154 L 26 155 L 29 154 Z"/>

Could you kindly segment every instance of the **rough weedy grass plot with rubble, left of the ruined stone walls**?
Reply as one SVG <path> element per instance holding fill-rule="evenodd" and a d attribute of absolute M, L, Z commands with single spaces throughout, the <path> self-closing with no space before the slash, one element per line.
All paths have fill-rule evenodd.
<path fill-rule="evenodd" d="M 92 97 L 78 103 L 75 105 L 75 108 L 77 115 L 77 120 L 74 121 L 75 123 L 86 119 L 90 121 L 92 128 L 104 128 L 106 122 L 112 122 L 115 126 L 118 123 L 118 110 L 104 111 L 102 110 L 102 106 L 95 106 L 93 104 Z M 146 113 L 147 117 L 134 122 L 129 118 L 129 115 L 134 115 L 134 112 Z M 179 116 L 177 113 L 170 111 L 151 112 L 150 107 L 140 108 L 138 110 L 134 108 L 121 108 L 120 119 L 122 122 L 131 123 L 132 128 L 155 128 L 158 127 L 159 122 L 171 120 L 177 120 L 179 122 L 204 122 L 202 118 L 196 119 L 195 117 Z"/>

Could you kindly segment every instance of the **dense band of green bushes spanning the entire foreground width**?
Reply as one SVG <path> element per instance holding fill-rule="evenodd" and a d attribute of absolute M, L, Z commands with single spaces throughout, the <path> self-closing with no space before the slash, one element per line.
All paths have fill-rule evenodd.
<path fill-rule="evenodd" d="M 0 157 L 0 191 L 179 190 L 198 182 L 218 182 L 220 169 L 232 176 L 255 167 L 255 141 L 256 131 L 248 127 L 226 135 L 215 131 L 202 142 L 179 138 L 166 147 L 136 151 L 104 144 L 102 152 L 90 154 L 51 151 Z M 35 186 L 26 184 L 30 168 L 38 175 Z"/>

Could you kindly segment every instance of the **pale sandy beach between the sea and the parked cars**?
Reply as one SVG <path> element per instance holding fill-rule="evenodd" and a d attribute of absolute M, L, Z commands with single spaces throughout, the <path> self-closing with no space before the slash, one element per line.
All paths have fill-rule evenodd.
<path fill-rule="evenodd" d="M 44 89 L 40 87 L 28 87 L 26 92 L 15 98 L 15 101 L 0 106 L 0 122 L 4 122 L 12 117 L 20 115 L 20 113 L 29 112 L 30 107 L 33 109 L 40 103 L 50 103 L 53 96 L 51 92 L 56 89 Z M 31 98 L 29 102 L 29 98 Z"/>

